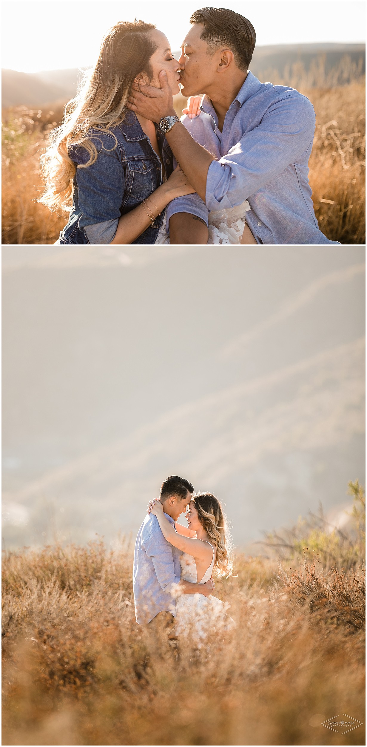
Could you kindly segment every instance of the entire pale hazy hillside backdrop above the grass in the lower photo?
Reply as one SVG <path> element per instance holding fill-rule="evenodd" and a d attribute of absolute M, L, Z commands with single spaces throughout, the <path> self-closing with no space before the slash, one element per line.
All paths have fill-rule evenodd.
<path fill-rule="evenodd" d="M 364 480 L 362 250 L 3 252 L 7 546 L 135 532 L 181 473 L 244 546 Z"/>

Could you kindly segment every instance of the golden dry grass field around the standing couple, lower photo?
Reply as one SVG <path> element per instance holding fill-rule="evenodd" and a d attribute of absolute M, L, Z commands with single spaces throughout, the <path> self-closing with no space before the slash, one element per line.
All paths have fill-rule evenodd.
<path fill-rule="evenodd" d="M 366 501 L 350 488 L 353 536 L 299 524 L 281 562 L 274 535 L 271 557 L 235 558 L 215 590 L 235 629 L 200 655 L 136 624 L 128 545 L 7 554 L 3 743 L 365 744 L 363 725 L 321 725 L 364 721 Z"/>

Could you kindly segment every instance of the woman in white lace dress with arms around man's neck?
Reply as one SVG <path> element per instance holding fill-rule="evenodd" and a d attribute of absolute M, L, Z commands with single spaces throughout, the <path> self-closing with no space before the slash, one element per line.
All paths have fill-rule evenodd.
<path fill-rule="evenodd" d="M 197 493 L 189 503 L 187 528 L 169 523 L 159 500 L 149 503 L 148 511 L 157 516 L 163 536 L 182 550 L 181 579 L 205 583 L 212 574 L 229 576 L 232 564 L 228 554 L 228 526 L 222 506 L 215 495 Z M 232 627 L 228 603 L 210 595 L 180 595 L 176 602 L 176 635 L 189 636 L 196 648 L 204 645 L 209 633 Z"/>

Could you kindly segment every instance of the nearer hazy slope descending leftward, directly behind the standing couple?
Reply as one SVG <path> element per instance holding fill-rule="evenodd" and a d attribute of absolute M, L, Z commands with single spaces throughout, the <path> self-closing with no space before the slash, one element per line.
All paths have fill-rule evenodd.
<path fill-rule="evenodd" d="M 157 495 L 167 471 L 195 475 L 196 489 L 215 485 L 223 496 L 235 542 L 249 541 L 260 528 L 295 519 L 302 510 L 300 498 L 315 478 L 315 465 L 305 464 L 309 474 L 298 475 L 298 495 L 289 500 L 289 486 L 284 484 L 284 498 L 288 494 L 289 499 L 279 506 L 274 495 L 278 490 L 268 490 L 266 497 L 261 495 L 262 486 L 251 485 L 262 462 L 269 456 L 283 462 L 302 450 L 311 462 L 321 459 L 332 469 L 339 450 L 355 436 L 363 437 L 363 360 L 362 339 L 203 397 L 122 441 L 51 471 L 12 498 L 27 504 L 40 495 L 57 497 L 57 503 L 79 515 L 79 521 L 88 507 L 88 529 L 107 530 L 110 536 L 108 515 L 120 530 L 137 531 L 145 506 Z M 311 495 L 307 498 L 315 509 L 317 501 Z"/>

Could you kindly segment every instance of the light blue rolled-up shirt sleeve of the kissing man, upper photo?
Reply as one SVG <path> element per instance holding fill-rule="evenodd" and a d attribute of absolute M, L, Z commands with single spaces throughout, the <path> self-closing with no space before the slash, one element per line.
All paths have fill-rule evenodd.
<path fill-rule="evenodd" d="M 244 134 L 227 155 L 212 161 L 207 174 L 207 208 L 241 205 L 296 163 L 312 148 L 315 122 L 309 99 L 298 91 L 287 91 L 269 107 L 257 127 Z"/>

